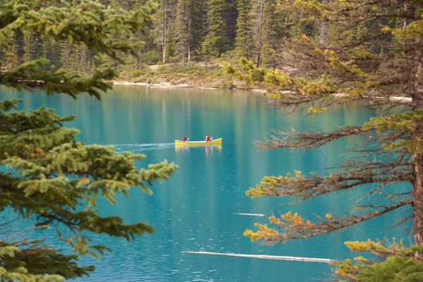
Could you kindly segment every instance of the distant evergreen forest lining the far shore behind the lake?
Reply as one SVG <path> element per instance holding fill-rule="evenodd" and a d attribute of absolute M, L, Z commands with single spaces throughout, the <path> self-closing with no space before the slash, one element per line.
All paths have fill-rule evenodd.
<path fill-rule="evenodd" d="M 131 11 L 144 6 L 147 0 L 100 2 Z M 284 37 L 303 33 L 319 37 L 315 28 L 318 25 L 305 24 L 292 11 L 283 14 L 278 11 L 276 0 L 158 0 L 155 3 L 154 22 L 128 38 L 131 43 L 145 42 L 138 50 L 140 57 L 121 54 L 125 66 L 83 44 L 50 42 L 29 33 L 16 35 L 12 51 L 1 52 L 0 59 L 7 68 L 47 58 L 56 69 L 82 73 L 93 73 L 95 68 L 105 66 L 136 70 L 161 63 L 219 58 L 238 61 L 241 57 L 257 66 L 274 67 L 275 50 Z"/>

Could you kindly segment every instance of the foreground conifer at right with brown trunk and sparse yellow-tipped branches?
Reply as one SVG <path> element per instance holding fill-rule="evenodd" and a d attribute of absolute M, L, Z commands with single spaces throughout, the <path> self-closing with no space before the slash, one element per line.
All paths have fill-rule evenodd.
<path fill-rule="evenodd" d="M 404 9 L 404 5 L 410 8 Z M 302 35 L 290 39 L 286 63 L 300 73 L 257 68 L 241 61 L 241 71 L 226 66 L 247 82 L 259 85 L 274 97 L 276 106 L 307 105 L 317 114 L 329 106 L 358 101 L 379 116 L 363 125 L 344 125 L 331 132 L 276 130 L 257 142 L 264 149 L 312 149 L 333 140 L 360 137 L 350 148 L 361 157 L 345 160 L 333 173 L 320 175 L 295 171 L 294 175 L 265 176 L 247 195 L 294 197 L 302 202 L 332 192 L 357 190 L 368 185 L 366 198 L 353 207 L 353 214 L 304 219 L 290 212 L 269 218 L 272 226 L 256 223 L 247 230 L 252 240 L 276 243 L 337 231 L 402 208 L 410 212 L 395 226 L 412 220 L 415 246 L 381 242 L 347 243 L 351 250 L 373 252 L 382 262 L 362 257 L 357 264 L 339 262 L 337 274 L 347 281 L 420 281 L 423 274 L 423 25 L 421 1 L 346 0 L 326 4 L 318 1 L 281 1 L 288 11 L 300 12 L 315 23 L 337 26 L 330 44 L 324 46 Z M 407 23 L 403 25 L 401 23 Z M 410 102 L 408 102 L 410 101 Z M 401 106 L 400 113 L 393 111 Z M 304 109 L 298 107 L 295 109 Z M 331 109 L 331 108 L 329 108 Z M 404 183 L 398 188 L 393 186 Z M 407 188 L 408 187 L 408 188 Z M 386 260 L 384 260 L 386 259 Z M 382 270 L 388 271 L 385 273 Z M 397 280 L 398 279 L 398 280 Z"/>

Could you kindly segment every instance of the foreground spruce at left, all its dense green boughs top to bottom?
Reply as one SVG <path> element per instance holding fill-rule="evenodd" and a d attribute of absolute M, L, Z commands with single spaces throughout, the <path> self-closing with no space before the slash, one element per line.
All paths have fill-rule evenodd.
<path fill-rule="evenodd" d="M 152 2 L 125 12 L 106 8 L 99 2 L 12 0 L 0 4 L 0 46 L 13 48 L 19 33 L 45 41 L 85 44 L 122 61 L 126 52 L 136 56 L 135 46 L 125 39 L 151 21 Z M 39 20 L 40 18 L 44 20 Z M 117 35 L 117 36 L 116 36 Z M 5 53 L 4 53 L 5 54 Z M 114 69 L 97 70 L 85 78 L 75 71 L 48 68 L 47 59 L 37 59 L 0 68 L 1 85 L 17 89 L 44 90 L 77 97 L 87 92 L 100 97 L 116 77 Z M 4 232 L 13 222 L 1 222 L 1 281 L 63 281 L 86 276 L 94 266 L 78 265 L 81 255 L 102 255 L 109 247 L 92 245 L 90 234 L 107 234 L 134 240 L 136 235 L 154 232 L 141 221 L 127 224 L 118 216 L 100 216 L 97 199 L 111 203 L 115 196 L 128 197 L 128 190 L 139 187 L 148 193 L 155 180 L 166 180 L 177 168 L 166 161 L 135 169 L 142 154 L 118 154 L 111 146 L 84 145 L 75 140 L 78 130 L 64 128 L 73 116 L 60 117 L 53 110 L 16 111 L 21 100 L 0 102 L 0 211 L 11 209 L 21 220 L 36 221 L 30 229 L 55 226 L 57 236 L 71 245 L 65 254 L 42 240 L 18 240 L 19 233 Z"/>

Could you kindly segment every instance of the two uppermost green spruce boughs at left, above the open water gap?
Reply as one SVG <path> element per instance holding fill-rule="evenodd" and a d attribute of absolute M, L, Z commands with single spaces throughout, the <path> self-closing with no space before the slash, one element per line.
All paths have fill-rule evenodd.
<path fill-rule="evenodd" d="M 136 48 L 140 46 L 138 42 L 130 44 L 123 38 L 130 32 L 144 30 L 152 20 L 152 7 L 154 5 L 148 2 L 142 8 L 125 12 L 87 0 L 75 6 L 63 1 L 60 6 L 47 7 L 39 1 L 9 1 L 0 5 L 0 18 L 3 23 L 0 29 L 0 45 L 5 49 L 15 48 L 13 39 L 22 32 L 27 38 L 27 48 L 32 48 L 28 45 L 32 44 L 32 38 L 52 43 L 83 43 L 84 48 L 95 49 L 111 59 L 123 61 L 119 56 L 120 52 L 137 56 Z M 25 54 L 29 54 L 28 52 L 30 51 Z M 24 60 L 26 63 L 18 65 L 20 60 L 15 55 L 14 63 L 6 65 L 5 70 L 1 72 L 1 84 L 18 88 L 37 87 L 48 93 L 56 91 L 70 94 L 72 97 L 79 92 L 88 92 L 98 98 L 99 91 L 111 87 L 103 80 L 111 80 L 118 75 L 114 69 L 106 68 L 93 72 L 92 78 L 84 78 L 77 72 L 54 71 L 54 66 L 49 70 L 50 62 L 47 59 L 31 61 L 35 57 L 28 55 Z M 72 60 L 69 62 L 72 65 Z"/>

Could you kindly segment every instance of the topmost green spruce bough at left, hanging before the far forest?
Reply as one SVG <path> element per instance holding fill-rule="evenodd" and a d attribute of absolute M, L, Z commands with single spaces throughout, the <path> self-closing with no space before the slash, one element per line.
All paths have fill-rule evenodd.
<path fill-rule="evenodd" d="M 0 6 L 1 22 L 0 45 L 8 48 L 13 43 L 16 32 L 38 35 L 52 42 L 66 39 L 70 44 L 83 42 L 88 48 L 102 51 L 116 60 L 118 51 L 136 55 L 133 44 L 126 40 L 116 41 L 130 32 L 142 29 L 151 21 L 152 2 L 135 11 L 116 11 L 105 8 L 98 2 L 82 0 L 72 6 L 66 1 L 62 6 L 44 7 L 40 2 L 19 0 Z M 44 20 L 40 20 L 44 19 Z M 91 32 L 86 32 L 91 30 Z"/>

